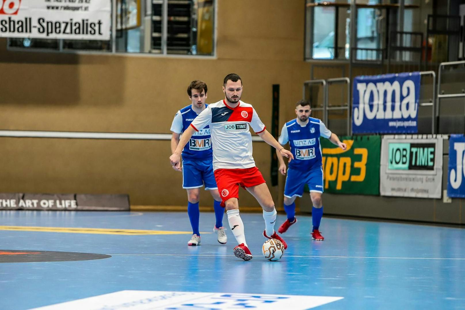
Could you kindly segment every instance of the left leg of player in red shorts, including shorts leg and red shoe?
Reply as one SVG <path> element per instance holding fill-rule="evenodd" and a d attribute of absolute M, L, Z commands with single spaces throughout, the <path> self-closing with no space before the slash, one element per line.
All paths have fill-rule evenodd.
<path fill-rule="evenodd" d="M 235 169 L 215 170 L 215 180 L 222 205 L 226 209 L 229 227 L 238 242 L 234 247 L 234 255 L 248 261 L 252 259 L 252 253 L 247 247 L 244 223 L 239 215 L 239 176 L 233 170 Z"/>

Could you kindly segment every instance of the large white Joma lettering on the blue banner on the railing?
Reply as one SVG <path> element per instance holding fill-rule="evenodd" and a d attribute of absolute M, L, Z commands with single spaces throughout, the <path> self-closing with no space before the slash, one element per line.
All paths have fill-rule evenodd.
<path fill-rule="evenodd" d="M 404 99 L 400 101 L 400 90 Z M 367 119 L 400 119 L 407 117 L 416 117 L 418 107 L 415 104 L 415 83 L 406 80 L 402 86 L 399 81 L 394 83 L 379 82 L 376 83 L 358 83 L 359 106 L 354 108 L 353 121 L 356 126 L 360 126 L 363 118 Z M 395 101 L 392 102 L 392 94 Z M 372 101 L 370 101 L 372 97 Z M 392 111 L 394 103 L 394 111 Z"/>

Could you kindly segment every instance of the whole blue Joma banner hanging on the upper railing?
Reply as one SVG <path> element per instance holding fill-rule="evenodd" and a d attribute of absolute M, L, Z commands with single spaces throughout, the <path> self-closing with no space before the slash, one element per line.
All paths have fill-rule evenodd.
<path fill-rule="evenodd" d="M 418 132 L 419 72 L 357 76 L 352 96 L 354 134 Z"/>

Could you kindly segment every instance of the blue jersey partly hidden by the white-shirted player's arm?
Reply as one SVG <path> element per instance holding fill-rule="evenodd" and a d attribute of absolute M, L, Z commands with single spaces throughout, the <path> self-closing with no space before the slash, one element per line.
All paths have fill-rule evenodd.
<path fill-rule="evenodd" d="M 180 109 L 174 115 L 171 131 L 182 134 L 197 115 L 192 109 L 192 105 Z M 182 158 L 183 160 L 212 160 L 212 139 L 210 138 L 210 128 L 208 126 L 192 135 L 191 140 L 187 142 L 182 151 Z"/>

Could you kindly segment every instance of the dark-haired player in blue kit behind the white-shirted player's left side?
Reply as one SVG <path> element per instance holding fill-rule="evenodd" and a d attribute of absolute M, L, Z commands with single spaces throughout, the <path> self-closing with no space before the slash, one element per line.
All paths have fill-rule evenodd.
<path fill-rule="evenodd" d="M 171 131 L 171 151 L 178 147 L 179 136 L 197 115 L 206 108 L 205 100 L 207 96 L 207 86 L 202 81 L 192 81 L 187 88 L 187 94 L 192 104 L 180 109 L 174 115 Z M 213 175 L 212 142 L 210 138 L 210 128 L 207 126 L 196 132 L 182 151 L 183 166 L 173 166 L 176 171 L 182 171 L 182 188 L 187 190 L 187 214 L 191 221 L 193 235 L 187 245 L 200 245 L 199 232 L 199 195 L 200 188 L 205 185 L 205 190 L 209 190 L 213 196 L 216 223 L 213 231 L 218 235 L 218 242 L 225 244 L 227 241 L 225 228 L 223 227 L 223 214 L 225 209 L 220 206 L 218 187 Z"/>

